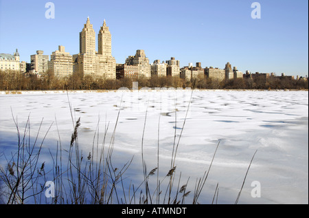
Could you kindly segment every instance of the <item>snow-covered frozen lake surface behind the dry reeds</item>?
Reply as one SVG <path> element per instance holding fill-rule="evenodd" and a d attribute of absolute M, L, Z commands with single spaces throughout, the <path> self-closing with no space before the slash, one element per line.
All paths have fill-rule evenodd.
<path fill-rule="evenodd" d="M 258 150 L 238 204 L 308 204 L 308 91 L 194 90 L 190 96 L 190 90 L 2 92 L 0 152 L 8 153 L 10 143 L 16 140 L 12 116 L 21 129 L 29 116 L 33 136 L 42 119 L 41 137 L 52 124 L 47 138 L 55 142 L 59 140 L 58 126 L 62 144 L 69 146 L 71 104 L 73 120 L 80 118 L 78 138 L 86 155 L 96 130 L 102 140 L 108 125 L 107 136 L 111 136 L 119 113 L 115 164 L 125 164 L 134 155 L 126 179 L 140 183 L 145 118 L 144 159 L 148 170 L 155 168 L 159 144 L 162 175 L 170 169 L 174 135 L 178 142 L 185 121 L 176 173 L 181 173 L 182 184 L 190 178 L 187 190 L 193 192 L 196 179 L 208 170 L 220 142 L 201 203 L 211 204 L 218 184 L 218 204 L 233 204 Z M 252 196 L 251 192 L 259 193 L 258 188 L 260 196 Z"/>

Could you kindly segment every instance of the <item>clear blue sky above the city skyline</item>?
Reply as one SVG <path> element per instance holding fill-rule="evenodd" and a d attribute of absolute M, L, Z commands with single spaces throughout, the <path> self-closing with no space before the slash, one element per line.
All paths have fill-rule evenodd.
<path fill-rule="evenodd" d="M 45 18 L 49 1 L 55 19 Z M 97 37 L 106 19 L 117 63 L 145 50 L 150 63 L 173 56 L 181 66 L 224 68 L 229 61 L 242 72 L 308 75 L 307 0 L 49 1 L 0 0 L 0 53 L 18 48 L 30 62 L 36 50 L 50 55 L 64 45 L 78 54 L 89 16 Z M 261 19 L 251 18 L 255 1 Z"/>

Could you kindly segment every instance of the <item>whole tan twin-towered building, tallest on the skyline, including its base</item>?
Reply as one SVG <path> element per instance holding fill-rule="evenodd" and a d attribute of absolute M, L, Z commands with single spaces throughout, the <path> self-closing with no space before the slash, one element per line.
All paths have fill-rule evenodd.
<path fill-rule="evenodd" d="M 111 54 L 111 32 L 106 22 L 98 34 L 98 52 L 95 51 L 95 31 L 89 17 L 80 32 L 80 53 L 73 55 L 73 72 L 90 76 L 116 78 L 116 60 Z"/>

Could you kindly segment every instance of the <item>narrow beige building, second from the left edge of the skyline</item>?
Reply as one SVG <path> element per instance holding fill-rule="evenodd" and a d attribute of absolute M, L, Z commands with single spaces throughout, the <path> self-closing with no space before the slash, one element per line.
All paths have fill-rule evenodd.
<path fill-rule="evenodd" d="M 44 55 L 43 51 L 37 50 L 36 54 L 32 54 L 31 58 L 31 69 L 33 73 L 43 74 L 48 69 L 48 55 Z"/>

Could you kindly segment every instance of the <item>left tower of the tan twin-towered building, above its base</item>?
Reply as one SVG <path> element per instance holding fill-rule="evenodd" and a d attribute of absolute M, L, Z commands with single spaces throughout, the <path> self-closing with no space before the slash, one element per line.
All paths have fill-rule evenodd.
<path fill-rule="evenodd" d="M 80 32 L 80 54 L 95 54 L 95 31 L 89 17 L 82 32 Z"/>

